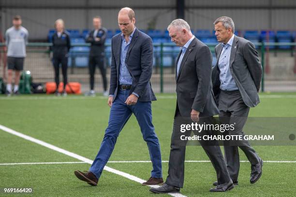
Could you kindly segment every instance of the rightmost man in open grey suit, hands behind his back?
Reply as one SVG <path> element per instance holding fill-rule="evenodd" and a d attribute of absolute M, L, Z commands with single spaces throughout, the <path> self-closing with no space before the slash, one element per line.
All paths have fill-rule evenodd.
<path fill-rule="evenodd" d="M 230 17 L 216 19 L 215 35 L 219 43 L 215 47 L 217 64 L 212 70 L 213 91 L 219 100 L 219 118 L 224 124 L 234 124 L 230 135 L 244 135 L 250 107 L 260 101 L 258 91 L 262 79 L 262 66 L 252 42 L 234 35 L 234 22 Z M 224 144 L 227 169 L 233 183 L 238 184 L 239 155 L 238 146 L 251 163 L 250 182 L 255 183 L 262 174 L 262 159 L 248 141 Z M 217 182 L 213 183 L 214 185 Z"/>

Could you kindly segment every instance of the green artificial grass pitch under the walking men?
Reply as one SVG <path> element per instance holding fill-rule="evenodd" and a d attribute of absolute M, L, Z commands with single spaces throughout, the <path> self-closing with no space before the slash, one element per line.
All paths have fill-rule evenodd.
<path fill-rule="evenodd" d="M 261 94 L 261 103 L 250 111 L 253 117 L 296 117 L 296 98 L 265 96 L 296 94 Z M 158 95 L 152 104 L 153 124 L 159 137 L 163 160 L 168 160 L 176 99 L 173 94 Z M 169 98 L 165 98 L 170 96 Z M 94 159 L 104 137 L 109 107 L 102 97 L 0 96 L 0 125 L 51 143 L 78 155 Z M 256 146 L 264 160 L 296 160 L 295 146 Z M 240 152 L 241 160 L 247 160 Z M 110 161 L 149 160 L 148 148 L 134 118 L 121 131 Z M 186 160 L 208 160 L 200 146 L 188 146 Z M 0 163 L 78 161 L 36 143 L 0 130 Z M 107 166 L 141 179 L 150 176 L 150 163 L 108 163 Z M 163 177 L 168 163 L 163 163 Z M 104 171 L 97 187 L 79 181 L 74 170 L 87 170 L 89 164 L 47 164 L 0 166 L 0 187 L 33 187 L 33 196 L 154 196 L 147 186 Z M 186 163 L 183 195 L 197 196 L 295 196 L 296 163 L 265 163 L 262 178 L 249 183 L 250 164 L 241 163 L 239 185 L 226 193 L 213 194 L 208 189 L 216 180 L 210 163 Z M 4 195 L 3 196 L 11 196 Z M 21 196 L 21 195 L 15 195 Z M 27 195 L 28 196 L 28 195 Z M 167 195 L 157 195 L 167 196 Z"/>

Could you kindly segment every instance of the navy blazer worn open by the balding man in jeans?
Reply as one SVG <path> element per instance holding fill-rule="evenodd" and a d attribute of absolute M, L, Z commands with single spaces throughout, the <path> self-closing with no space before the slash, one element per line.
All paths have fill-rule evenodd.
<path fill-rule="evenodd" d="M 113 100 L 118 93 L 121 39 L 121 33 L 119 33 L 113 36 L 111 41 L 112 60 L 109 94 L 114 95 Z M 133 33 L 125 63 L 133 78 L 130 94 L 133 92 L 138 94 L 138 101 L 142 102 L 156 100 L 150 84 L 153 66 L 152 39 L 137 28 Z"/>

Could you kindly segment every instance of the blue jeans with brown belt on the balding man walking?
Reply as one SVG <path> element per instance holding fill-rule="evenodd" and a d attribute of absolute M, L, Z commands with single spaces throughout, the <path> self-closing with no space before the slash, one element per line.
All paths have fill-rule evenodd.
<path fill-rule="evenodd" d="M 101 143 L 99 153 L 89 169 L 97 178 L 100 178 L 104 166 L 113 152 L 117 137 L 132 113 L 135 115 L 141 128 L 143 139 L 148 145 L 153 167 L 151 177 L 163 177 L 160 145 L 154 132 L 154 126 L 152 125 L 151 102 L 138 101 L 135 105 L 127 105 L 124 102 L 129 97 L 129 92 L 129 90 L 119 90 L 112 104 L 104 139 Z"/>

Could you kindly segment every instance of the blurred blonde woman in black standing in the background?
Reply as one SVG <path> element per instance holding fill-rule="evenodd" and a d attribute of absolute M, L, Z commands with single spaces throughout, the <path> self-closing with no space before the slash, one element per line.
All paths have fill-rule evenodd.
<path fill-rule="evenodd" d="M 57 84 L 56 95 L 59 96 L 59 64 L 61 64 L 62 74 L 64 79 L 64 88 L 62 95 L 67 96 L 65 87 L 67 82 L 67 69 L 68 69 L 68 53 L 71 47 L 69 32 L 65 31 L 64 21 L 58 19 L 55 22 L 56 32 L 52 37 L 52 52 L 53 52 L 53 65 L 55 69 L 55 81 Z"/>

